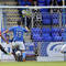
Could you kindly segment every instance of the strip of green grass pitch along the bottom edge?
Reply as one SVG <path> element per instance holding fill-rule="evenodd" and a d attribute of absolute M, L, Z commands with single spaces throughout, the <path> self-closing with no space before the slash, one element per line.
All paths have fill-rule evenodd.
<path fill-rule="evenodd" d="M 66 66 L 66 62 L 0 62 L 0 66 Z"/>

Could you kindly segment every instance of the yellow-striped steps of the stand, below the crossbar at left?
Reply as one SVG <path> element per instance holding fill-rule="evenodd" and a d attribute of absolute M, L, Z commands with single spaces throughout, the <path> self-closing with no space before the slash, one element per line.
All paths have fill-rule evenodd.
<path fill-rule="evenodd" d="M 16 22 L 21 20 L 18 9 L 3 9 L 3 12 L 6 13 L 8 28 L 16 25 Z"/>

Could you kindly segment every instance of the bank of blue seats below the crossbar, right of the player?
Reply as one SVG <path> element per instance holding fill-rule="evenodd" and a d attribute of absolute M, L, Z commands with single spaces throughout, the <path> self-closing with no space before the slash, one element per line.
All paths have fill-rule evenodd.
<path fill-rule="evenodd" d="M 59 13 L 54 12 L 50 13 L 50 11 L 44 11 L 44 9 L 40 9 L 42 13 L 42 24 L 43 26 L 40 29 L 34 28 L 32 30 L 32 38 L 35 42 L 62 42 L 64 41 L 62 37 L 62 29 L 59 28 Z M 35 31 L 35 32 L 34 32 Z M 41 38 L 41 40 L 38 40 Z"/>

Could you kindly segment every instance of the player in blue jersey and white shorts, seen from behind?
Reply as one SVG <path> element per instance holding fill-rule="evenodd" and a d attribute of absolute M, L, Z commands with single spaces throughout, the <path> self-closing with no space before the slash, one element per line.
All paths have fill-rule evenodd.
<path fill-rule="evenodd" d="M 26 26 L 22 28 L 21 26 L 21 22 L 18 22 L 18 26 L 12 26 L 9 30 L 4 31 L 4 33 L 8 33 L 12 31 L 13 32 L 13 42 L 12 42 L 12 46 L 15 47 L 16 45 L 19 46 L 19 48 L 22 51 L 22 56 L 23 56 L 23 62 L 25 61 L 25 46 L 23 44 L 23 33 L 30 31 Z"/>

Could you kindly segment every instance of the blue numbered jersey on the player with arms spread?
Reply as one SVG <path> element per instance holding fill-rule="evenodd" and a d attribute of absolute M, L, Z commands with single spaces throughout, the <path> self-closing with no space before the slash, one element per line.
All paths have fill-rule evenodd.
<path fill-rule="evenodd" d="M 23 33 L 28 32 L 26 29 L 22 26 L 12 26 L 9 31 L 13 32 L 13 41 L 21 41 L 23 42 Z"/>

